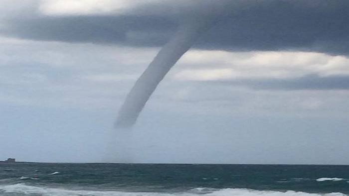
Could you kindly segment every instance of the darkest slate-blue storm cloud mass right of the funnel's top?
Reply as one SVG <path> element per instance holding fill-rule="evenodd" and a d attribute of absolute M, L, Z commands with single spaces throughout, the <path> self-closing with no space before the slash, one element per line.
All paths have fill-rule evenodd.
<path fill-rule="evenodd" d="M 263 3 L 222 20 L 201 43 L 240 51 L 295 49 L 348 54 L 349 1 L 328 2 L 328 7 L 290 1 Z"/>

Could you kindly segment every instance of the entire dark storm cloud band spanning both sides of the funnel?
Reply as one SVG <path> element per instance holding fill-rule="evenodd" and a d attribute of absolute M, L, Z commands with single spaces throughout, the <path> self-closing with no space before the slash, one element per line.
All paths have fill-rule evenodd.
<path fill-rule="evenodd" d="M 210 6 L 188 2 L 191 2 L 191 8 L 178 11 L 179 16 L 166 11 L 156 11 L 158 14 L 152 15 L 152 11 L 159 9 L 159 6 L 152 8 L 150 5 L 141 8 L 143 11 L 149 10 L 148 14 L 142 15 L 135 12 L 123 16 L 16 16 L 8 19 L 0 32 L 35 40 L 162 46 L 178 23 L 195 15 L 198 9 L 201 13 L 212 12 Z M 220 22 L 205 33 L 194 47 L 349 54 L 348 0 L 240 1 L 245 2 L 241 6 L 236 5 L 235 1 L 224 2 L 227 14 L 221 16 Z"/>

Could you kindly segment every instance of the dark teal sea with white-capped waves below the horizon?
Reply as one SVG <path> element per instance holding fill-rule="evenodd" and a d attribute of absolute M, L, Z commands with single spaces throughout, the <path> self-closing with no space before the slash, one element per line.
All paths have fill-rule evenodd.
<path fill-rule="evenodd" d="M 0 163 L 0 196 L 346 196 L 349 166 Z"/>

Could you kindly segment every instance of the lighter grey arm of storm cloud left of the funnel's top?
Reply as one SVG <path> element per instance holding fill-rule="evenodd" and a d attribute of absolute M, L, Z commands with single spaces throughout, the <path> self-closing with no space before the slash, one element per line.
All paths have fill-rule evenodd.
<path fill-rule="evenodd" d="M 10 19 L 0 32 L 33 40 L 158 46 L 174 30 L 174 22 L 165 17 L 39 16 Z"/>

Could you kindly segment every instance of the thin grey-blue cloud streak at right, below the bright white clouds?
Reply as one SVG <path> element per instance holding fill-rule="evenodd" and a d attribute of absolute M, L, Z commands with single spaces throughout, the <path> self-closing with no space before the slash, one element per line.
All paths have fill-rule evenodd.
<path fill-rule="evenodd" d="M 292 79 L 232 80 L 213 83 L 245 86 L 255 90 L 349 90 L 349 76 L 307 75 Z"/>

